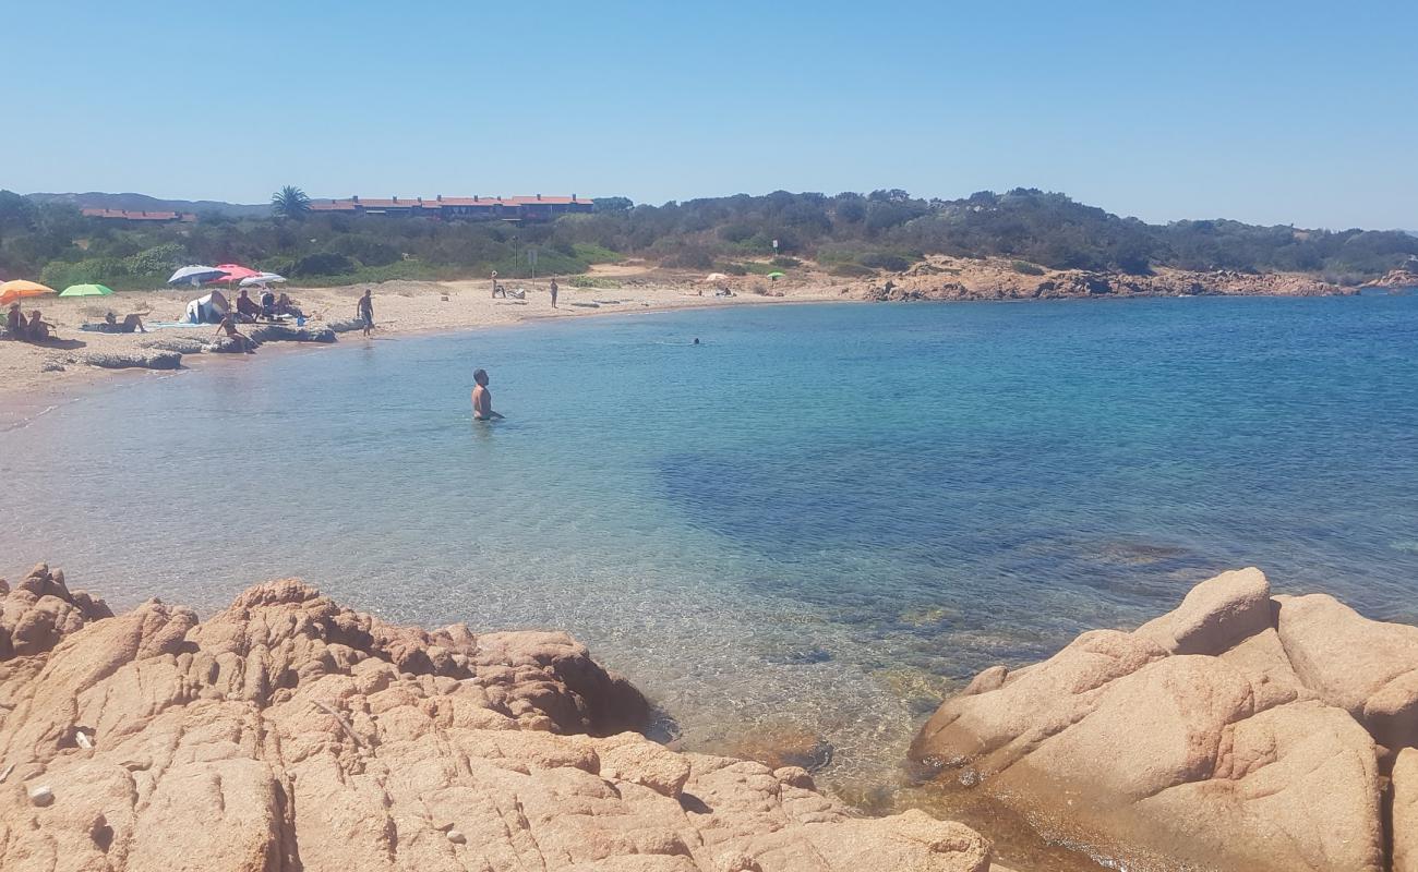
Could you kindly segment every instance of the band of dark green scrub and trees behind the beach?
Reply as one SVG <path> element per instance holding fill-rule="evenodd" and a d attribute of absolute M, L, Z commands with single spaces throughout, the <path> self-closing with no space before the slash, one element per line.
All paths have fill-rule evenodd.
<path fill-rule="evenodd" d="M 1010 258 L 1021 272 L 1048 267 L 1147 274 L 1177 267 L 1299 271 L 1357 284 L 1418 257 L 1418 238 L 1400 231 L 1227 220 L 1157 225 L 1034 189 L 963 200 L 922 200 L 902 190 L 774 191 L 664 206 L 611 197 L 598 200 L 594 214 L 543 224 L 294 211 L 257 218 L 203 213 L 194 224 L 128 225 L 85 218 L 71 203 L 0 191 L 0 278 L 136 288 L 160 284 L 179 265 L 227 262 L 303 284 L 459 278 L 492 269 L 527 275 L 535 251 L 540 275 L 584 272 L 631 255 L 730 274 L 793 269 L 813 259 L 835 275 L 861 276 L 947 254 Z"/>

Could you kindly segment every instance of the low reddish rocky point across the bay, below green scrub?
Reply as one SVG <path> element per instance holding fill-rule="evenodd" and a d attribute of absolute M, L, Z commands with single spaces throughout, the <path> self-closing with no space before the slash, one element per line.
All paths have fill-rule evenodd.
<path fill-rule="evenodd" d="M 1045 269 L 1001 258 L 929 257 L 900 275 L 855 289 L 873 301 L 986 301 L 1123 296 L 1334 296 L 1353 295 L 1300 272 L 1198 272 L 1159 268 L 1150 275 Z"/>

